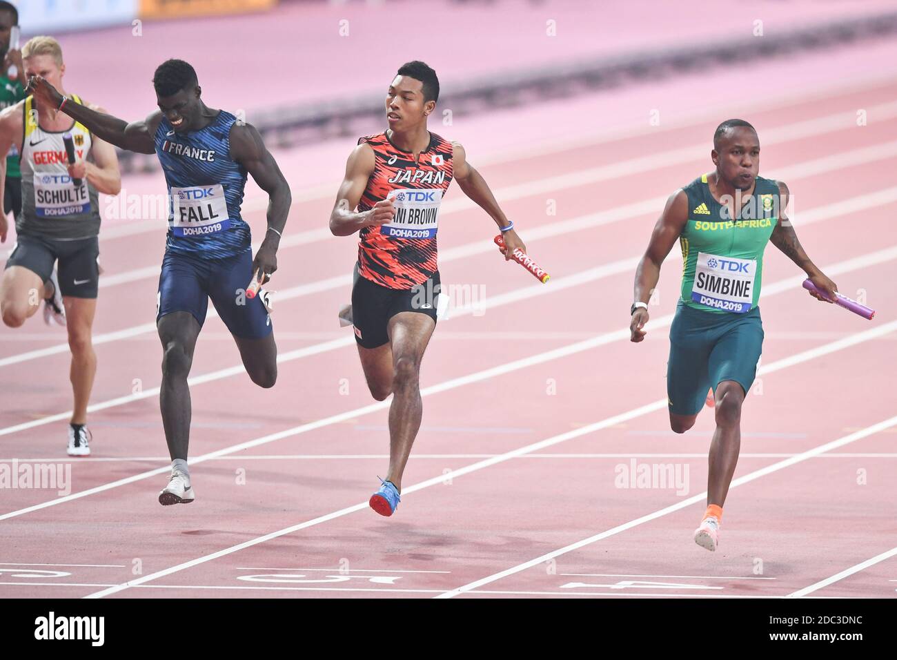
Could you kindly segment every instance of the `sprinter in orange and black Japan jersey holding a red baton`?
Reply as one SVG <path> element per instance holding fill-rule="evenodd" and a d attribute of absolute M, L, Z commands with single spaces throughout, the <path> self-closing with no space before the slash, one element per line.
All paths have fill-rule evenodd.
<path fill-rule="evenodd" d="M 346 163 L 330 215 L 336 236 L 359 233 L 351 318 L 361 368 L 376 400 L 389 408 L 389 470 L 370 507 L 393 515 L 402 473 L 421 427 L 421 361 L 440 293 L 436 233 L 442 197 L 452 179 L 492 217 L 504 237 L 505 259 L 526 246 L 514 232 L 464 147 L 427 130 L 440 83 L 423 62 L 402 66 L 386 99 L 389 128 L 361 137 Z"/>

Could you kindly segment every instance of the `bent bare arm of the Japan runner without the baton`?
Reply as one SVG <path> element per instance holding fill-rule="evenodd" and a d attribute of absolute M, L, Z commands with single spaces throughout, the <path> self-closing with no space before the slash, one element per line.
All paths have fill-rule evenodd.
<path fill-rule="evenodd" d="M 373 173 L 374 150 L 362 143 L 349 154 L 345 176 L 336 193 L 334 210 L 330 212 L 330 232 L 335 236 L 351 236 L 364 227 L 379 227 L 396 215 L 392 199 L 381 199 L 368 211 L 355 211 Z"/>

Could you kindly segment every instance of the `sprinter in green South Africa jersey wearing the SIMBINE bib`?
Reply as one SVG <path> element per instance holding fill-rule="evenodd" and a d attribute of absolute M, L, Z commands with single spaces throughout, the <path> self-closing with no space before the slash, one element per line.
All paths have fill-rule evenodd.
<path fill-rule="evenodd" d="M 728 119 L 713 136 L 716 171 L 704 174 L 667 200 L 648 251 L 635 274 L 631 340 L 645 337 L 648 301 L 660 264 L 678 240 L 682 246 L 682 293 L 670 326 L 666 392 L 670 427 L 694 425 L 709 389 L 717 428 L 710 444 L 707 510 L 694 541 L 716 550 L 723 503 L 738 462 L 741 407 L 751 389 L 763 343 L 757 300 L 763 251 L 772 242 L 830 298 L 838 290 L 816 268 L 785 216 L 788 187 L 757 176 L 760 139 L 743 119 Z"/>

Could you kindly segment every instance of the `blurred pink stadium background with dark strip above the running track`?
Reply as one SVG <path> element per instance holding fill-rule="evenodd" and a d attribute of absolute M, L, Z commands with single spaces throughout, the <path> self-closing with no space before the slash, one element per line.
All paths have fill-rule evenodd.
<path fill-rule="evenodd" d="M 461 117 L 571 97 L 613 99 L 608 88 L 654 86 L 733 66 L 746 73 L 774 62 L 788 73 L 786 63 L 822 55 L 824 68 L 837 75 L 832 51 L 840 58 L 852 46 L 893 40 L 897 32 L 897 7 L 889 0 L 18 4 L 23 37 L 57 36 L 67 86 L 110 112 L 133 119 L 152 110 L 153 68 L 180 57 L 196 67 L 207 103 L 245 112 L 281 147 L 380 128 L 383 88 L 408 59 L 423 59 L 440 74 L 443 121 L 454 125 Z M 873 61 L 866 65 L 871 69 Z M 782 78 L 757 93 L 788 93 L 801 82 Z M 707 106 L 714 97 L 718 92 L 689 101 Z M 578 119 L 577 128 L 596 128 L 628 118 L 611 111 Z M 545 123 L 552 122 L 541 128 Z M 154 156 L 130 154 L 124 165 L 131 172 L 156 167 Z"/>

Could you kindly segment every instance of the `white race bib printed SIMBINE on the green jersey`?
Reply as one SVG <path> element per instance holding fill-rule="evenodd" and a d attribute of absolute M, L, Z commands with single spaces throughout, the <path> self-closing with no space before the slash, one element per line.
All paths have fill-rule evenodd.
<path fill-rule="evenodd" d="M 756 274 L 756 260 L 698 252 L 692 300 L 726 312 L 750 312 Z"/>

